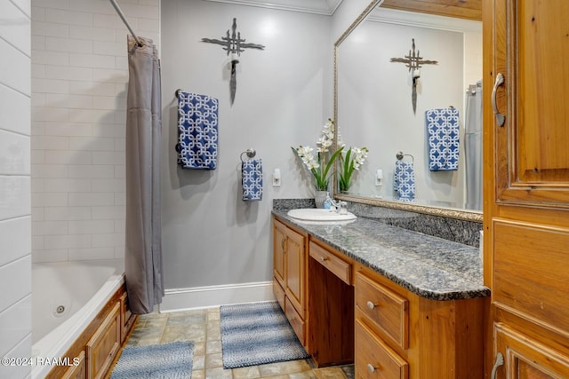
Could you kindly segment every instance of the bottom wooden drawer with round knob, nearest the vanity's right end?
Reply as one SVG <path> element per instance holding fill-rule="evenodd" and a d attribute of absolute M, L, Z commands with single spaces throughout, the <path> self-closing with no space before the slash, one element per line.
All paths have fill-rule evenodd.
<path fill-rule="evenodd" d="M 397 352 L 356 321 L 356 376 L 358 378 L 406 379 L 409 365 Z"/>

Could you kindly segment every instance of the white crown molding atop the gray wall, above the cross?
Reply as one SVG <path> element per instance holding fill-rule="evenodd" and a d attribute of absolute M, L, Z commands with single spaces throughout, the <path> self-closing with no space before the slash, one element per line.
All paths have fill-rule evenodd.
<path fill-rule="evenodd" d="M 315 13 L 331 16 L 343 0 L 205 0 L 213 3 L 256 6 L 280 11 Z"/>

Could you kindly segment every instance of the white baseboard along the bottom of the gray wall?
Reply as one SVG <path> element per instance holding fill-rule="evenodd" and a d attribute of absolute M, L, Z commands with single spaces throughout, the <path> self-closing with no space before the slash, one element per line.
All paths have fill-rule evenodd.
<path fill-rule="evenodd" d="M 209 308 L 223 304 L 252 303 L 275 300 L 272 281 L 259 281 L 223 286 L 173 288 L 164 291 L 160 312 L 178 312 Z"/>

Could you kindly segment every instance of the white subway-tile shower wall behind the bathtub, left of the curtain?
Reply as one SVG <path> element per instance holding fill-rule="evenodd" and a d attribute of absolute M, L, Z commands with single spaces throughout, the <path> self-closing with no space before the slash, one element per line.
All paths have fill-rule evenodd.
<path fill-rule="evenodd" d="M 159 43 L 160 0 L 119 0 Z M 124 256 L 127 28 L 108 0 L 32 0 L 34 262 Z"/>

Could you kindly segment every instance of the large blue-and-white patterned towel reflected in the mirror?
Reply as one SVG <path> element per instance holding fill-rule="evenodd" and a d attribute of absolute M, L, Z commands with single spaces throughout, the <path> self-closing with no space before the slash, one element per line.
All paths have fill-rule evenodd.
<path fill-rule="evenodd" d="M 459 111 L 456 108 L 430 109 L 425 112 L 429 143 L 429 170 L 459 168 Z"/>

